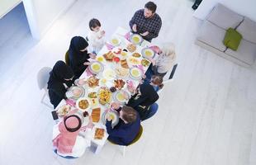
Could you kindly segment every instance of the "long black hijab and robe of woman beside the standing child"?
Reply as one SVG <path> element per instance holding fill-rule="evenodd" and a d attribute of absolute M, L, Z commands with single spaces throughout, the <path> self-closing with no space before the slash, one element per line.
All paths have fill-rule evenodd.
<path fill-rule="evenodd" d="M 88 62 L 88 51 L 84 50 L 88 47 L 88 42 L 82 36 L 74 36 L 69 45 L 69 65 L 73 69 L 76 78 L 79 78 L 87 66 L 83 63 Z"/>

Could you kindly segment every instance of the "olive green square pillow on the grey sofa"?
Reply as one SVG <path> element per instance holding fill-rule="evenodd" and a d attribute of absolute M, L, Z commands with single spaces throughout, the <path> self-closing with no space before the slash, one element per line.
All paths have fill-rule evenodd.
<path fill-rule="evenodd" d="M 239 34 L 238 31 L 235 31 L 235 29 L 230 27 L 225 32 L 223 44 L 226 47 L 230 48 L 231 50 L 237 50 L 241 40 L 242 40 L 242 35 Z"/>

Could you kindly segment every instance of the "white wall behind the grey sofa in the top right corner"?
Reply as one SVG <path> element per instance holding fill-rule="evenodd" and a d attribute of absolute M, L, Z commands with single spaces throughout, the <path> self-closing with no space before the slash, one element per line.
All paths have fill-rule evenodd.
<path fill-rule="evenodd" d="M 203 0 L 194 12 L 194 16 L 203 20 L 216 4 L 220 2 L 225 7 L 256 21 L 256 0 Z"/>

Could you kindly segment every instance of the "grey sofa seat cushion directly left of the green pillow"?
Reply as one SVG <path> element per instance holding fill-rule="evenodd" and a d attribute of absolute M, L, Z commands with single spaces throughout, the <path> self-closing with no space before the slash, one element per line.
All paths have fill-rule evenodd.
<path fill-rule="evenodd" d="M 222 40 L 225 36 L 225 30 L 213 25 L 210 21 L 204 21 L 201 26 L 200 33 L 197 36 L 197 40 L 211 45 L 220 51 L 225 51 L 225 45 L 222 43 Z"/>

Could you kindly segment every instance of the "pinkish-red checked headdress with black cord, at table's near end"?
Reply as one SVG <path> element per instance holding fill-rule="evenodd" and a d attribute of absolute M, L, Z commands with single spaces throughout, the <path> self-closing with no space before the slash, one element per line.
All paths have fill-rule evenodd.
<path fill-rule="evenodd" d="M 79 126 L 79 120 L 73 115 L 74 112 L 75 111 L 71 111 L 70 115 L 65 117 L 64 120 L 59 123 L 60 134 L 53 139 L 54 147 L 57 148 L 59 153 L 72 153 L 73 145 L 75 144 L 79 131 L 81 130 L 81 123 Z M 75 128 L 78 128 L 78 130 Z M 74 131 L 70 132 L 69 129 Z"/>

